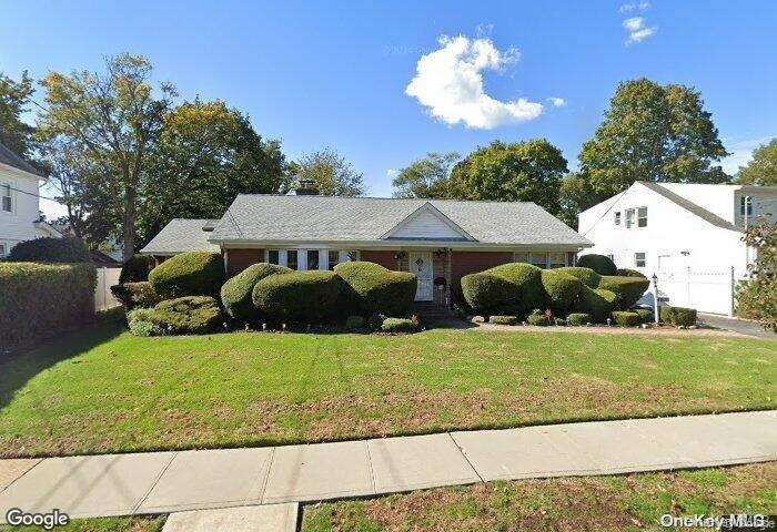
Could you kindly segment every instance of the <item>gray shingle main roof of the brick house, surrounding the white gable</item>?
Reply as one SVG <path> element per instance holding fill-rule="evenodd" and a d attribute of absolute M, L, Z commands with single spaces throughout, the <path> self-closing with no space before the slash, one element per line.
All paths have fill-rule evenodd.
<path fill-rule="evenodd" d="M 232 241 L 379 241 L 427 200 L 241 194 L 210 238 Z M 534 203 L 428 200 L 482 244 L 592 243 Z"/>

